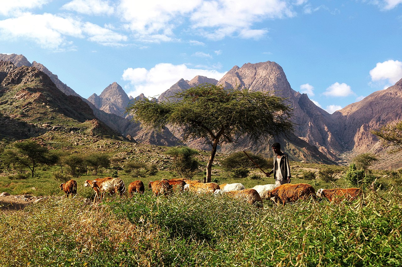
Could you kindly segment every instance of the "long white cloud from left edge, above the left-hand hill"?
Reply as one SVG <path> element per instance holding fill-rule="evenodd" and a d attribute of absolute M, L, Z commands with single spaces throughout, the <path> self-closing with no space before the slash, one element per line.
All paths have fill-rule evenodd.
<path fill-rule="evenodd" d="M 88 37 L 88 40 L 103 45 L 117 45 L 127 40 L 126 36 L 96 24 L 48 13 L 25 13 L 18 18 L 0 21 L 0 38 L 3 39 L 30 40 L 42 48 L 60 51 L 72 48 L 72 41 L 67 37 Z"/>

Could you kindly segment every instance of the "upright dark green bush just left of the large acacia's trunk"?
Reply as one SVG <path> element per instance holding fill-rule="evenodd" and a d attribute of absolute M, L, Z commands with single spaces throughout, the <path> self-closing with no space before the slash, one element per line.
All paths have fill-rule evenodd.
<path fill-rule="evenodd" d="M 193 178 L 199 166 L 198 160 L 194 157 L 198 155 L 197 150 L 187 146 L 176 146 L 165 152 L 173 160 L 174 168 L 181 178 Z"/>

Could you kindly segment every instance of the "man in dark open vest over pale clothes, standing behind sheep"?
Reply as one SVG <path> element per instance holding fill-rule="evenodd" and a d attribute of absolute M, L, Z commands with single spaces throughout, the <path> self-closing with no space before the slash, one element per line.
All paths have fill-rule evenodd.
<path fill-rule="evenodd" d="M 274 168 L 268 173 L 267 177 L 274 174 L 275 186 L 282 184 L 290 184 L 290 166 L 289 159 L 286 153 L 281 152 L 281 144 L 274 143 L 271 148 L 273 149 L 274 156 Z"/>

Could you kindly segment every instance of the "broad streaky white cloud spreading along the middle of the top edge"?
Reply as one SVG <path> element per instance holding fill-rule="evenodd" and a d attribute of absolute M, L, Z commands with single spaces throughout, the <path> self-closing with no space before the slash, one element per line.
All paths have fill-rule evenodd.
<path fill-rule="evenodd" d="M 155 35 L 163 35 L 169 41 L 184 22 L 191 23 L 193 33 L 211 39 L 226 36 L 256 39 L 268 32 L 265 28 L 253 28 L 256 23 L 295 16 L 291 4 L 284 0 L 121 0 L 118 9 L 127 29 L 137 39 L 149 42 Z"/>

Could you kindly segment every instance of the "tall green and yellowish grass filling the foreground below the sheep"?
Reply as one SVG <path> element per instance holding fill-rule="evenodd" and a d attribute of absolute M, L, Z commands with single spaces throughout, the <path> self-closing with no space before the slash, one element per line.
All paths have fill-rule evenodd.
<path fill-rule="evenodd" d="M 50 199 L 0 213 L 0 266 L 401 266 L 401 200 Z"/>

